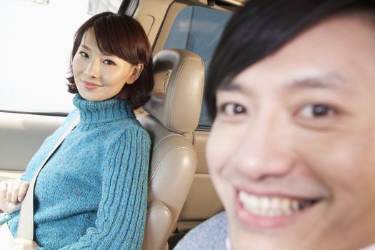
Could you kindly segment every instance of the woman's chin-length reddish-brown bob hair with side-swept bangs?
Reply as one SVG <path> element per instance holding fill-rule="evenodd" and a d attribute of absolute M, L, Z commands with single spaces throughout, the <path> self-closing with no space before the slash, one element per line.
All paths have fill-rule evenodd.
<path fill-rule="evenodd" d="M 71 50 L 70 76 L 67 77 L 68 91 L 78 93 L 74 81 L 72 61 L 81 44 L 84 34 L 92 29 L 96 43 L 102 53 L 119 56 L 130 64 L 143 64 L 144 69 L 133 84 L 125 84 L 119 94 L 114 98 L 129 101 L 132 109 L 137 109 L 149 100 L 154 87 L 152 74 L 152 52 L 149 39 L 144 29 L 136 19 L 131 16 L 103 12 L 92 16 L 76 31 L 73 49 Z"/>

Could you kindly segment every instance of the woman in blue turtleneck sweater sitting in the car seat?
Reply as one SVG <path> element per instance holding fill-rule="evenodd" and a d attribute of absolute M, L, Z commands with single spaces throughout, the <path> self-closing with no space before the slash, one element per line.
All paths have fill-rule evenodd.
<path fill-rule="evenodd" d="M 16 236 L 27 183 L 79 115 L 36 181 L 34 241 L 42 249 L 140 249 L 150 140 L 134 109 L 154 86 L 149 41 L 135 19 L 98 14 L 76 32 L 70 69 L 77 109 L 44 141 L 21 181 L 1 182 L 0 209 L 12 213 L 0 224 Z"/>

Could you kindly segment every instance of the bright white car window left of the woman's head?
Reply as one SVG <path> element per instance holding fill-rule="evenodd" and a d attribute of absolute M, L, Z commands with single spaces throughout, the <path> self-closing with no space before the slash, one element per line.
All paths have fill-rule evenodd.
<path fill-rule="evenodd" d="M 39 4 L 39 3 L 45 4 Z M 89 1 L 0 0 L 0 109 L 71 111 L 66 91 L 74 32 Z"/>

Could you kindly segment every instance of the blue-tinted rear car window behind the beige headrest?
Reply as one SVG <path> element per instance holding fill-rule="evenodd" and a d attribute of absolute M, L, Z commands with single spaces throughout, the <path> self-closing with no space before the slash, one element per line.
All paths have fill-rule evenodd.
<path fill-rule="evenodd" d="M 204 74 L 206 75 L 211 57 L 230 17 L 230 12 L 201 6 L 188 6 L 176 16 L 164 49 L 186 49 L 198 54 L 204 61 Z M 205 105 L 202 106 L 199 126 L 211 126 Z"/>

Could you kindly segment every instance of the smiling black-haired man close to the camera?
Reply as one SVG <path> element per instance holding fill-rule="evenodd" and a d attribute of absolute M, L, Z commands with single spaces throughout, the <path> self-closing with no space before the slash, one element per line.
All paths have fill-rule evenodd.
<path fill-rule="evenodd" d="M 205 89 L 226 215 L 176 250 L 375 249 L 374 37 L 368 0 L 252 0 L 234 14 Z"/>

